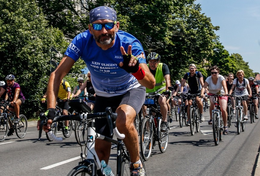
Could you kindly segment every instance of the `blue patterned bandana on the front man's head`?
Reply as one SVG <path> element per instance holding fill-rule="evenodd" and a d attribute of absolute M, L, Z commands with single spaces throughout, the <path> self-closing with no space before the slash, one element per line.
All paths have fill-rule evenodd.
<path fill-rule="evenodd" d="M 89 22 L 93 23 L 98 19 L 111 19 L 112 21 L 117 20 L 117 12 L 106 6 L 100 6 L 95 9 L 92 9 L 89 12 Z"/>

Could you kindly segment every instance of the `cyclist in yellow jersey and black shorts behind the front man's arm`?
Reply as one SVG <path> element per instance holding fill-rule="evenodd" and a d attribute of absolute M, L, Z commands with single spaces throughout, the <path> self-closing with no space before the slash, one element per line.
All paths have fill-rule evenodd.
<path fill-rule="evenodd" d="M 42 103 L 45 102 L 47 97 L 47 92 L 42 96 Z M 69 110 L 69 100 L 71 98 L 71 89 L 70 89 L 70 84 L 65 81 L 64 79 L 61 80 L 60 86 L 59 86 L 59 92 L 58 92 L 58 97 L 57 100 L 63 100 L 62 102 L 58 102 L 57 106 L 59 106 L 62 109 L 63 115 L 68 115 L 68 110 Z M 49 101 L 48 97 L 48 101 Z M 69 121 L 65 120 L 65 135 L 69 135 Z"/>

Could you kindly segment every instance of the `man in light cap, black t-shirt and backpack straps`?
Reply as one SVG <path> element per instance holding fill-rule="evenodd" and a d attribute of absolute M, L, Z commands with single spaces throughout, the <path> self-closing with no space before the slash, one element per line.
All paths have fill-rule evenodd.
<path fill-rule="evenodd" d="M 189 71 L 187 72 L 182 79 L 182 85 L 181 85 L 181 92 L 183 91 L 183 87 L 185 86 L 186 80 L 188 80 L 188 85 L 190 87 L 190 90 L 188 93 L 190 94 L 197 94 L 200 93 L 201 87 L 204 85 L 203 82 L 203 76 L 201 72 L 196 71 L 196 65 L 195 64 L 190 64 L 189 65 Z M 201 101 L 201 98 L 198 96 L 196 97 L 196 102 L 198 109 L 200 111 L 200 121 L 205 121 L 204 118 L 204 112 L 203 112 L 203 104 Z M 188 96 L 188 108 L 187 108 L 187 115 L 188 115 L 188 123 L 187 125 L 190 126 L 190 106 L 192 104 L 192 100 Z"/>

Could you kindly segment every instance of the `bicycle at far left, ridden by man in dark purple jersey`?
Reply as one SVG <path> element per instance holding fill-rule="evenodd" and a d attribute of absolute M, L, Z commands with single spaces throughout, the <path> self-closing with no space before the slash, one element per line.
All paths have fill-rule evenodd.
<path fill-rule="evenodd" d="M 5 140 L 6 136 L 8 135 L 8 130 L 10 136 L 13 135 L 12 132 L 15 131 L 18 138 L 24 138 L 27 132 L 27 118 L 25 115 L 20 114 L 19 122 L 15 123 L 14 121 L 17 120 L 16 114 L 12 111 L 9 111 L 7 108 L 8 106 L 10 106 L 10 102 L 8 101 L 2 100 L 0 103 L 0 108 L 3 111 L 3 113 L 0 115 L 0 141 Z"/>

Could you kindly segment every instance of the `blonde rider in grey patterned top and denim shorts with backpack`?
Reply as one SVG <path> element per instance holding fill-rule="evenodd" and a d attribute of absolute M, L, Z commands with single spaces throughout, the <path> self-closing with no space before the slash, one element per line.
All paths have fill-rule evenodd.
<path fill-rule="evenodd" d="M 238 70 L 236 76 L 237 76 L 237 78 L 234 79 L 233 85 L 232 85 L 231 89 L 229 90 L 229 94 L 231 94 L 234 90 L 235 95 L 242 96 L 242 98 L 243 98 L 242 104 L 243 104 L 244 114 L 245 114 L 244 119 L 248 120 L 247 100 L 248 100 L 248 97 L 252 97 L 251 88 L 250 88 L 248 79 L 244 78 L 243 70 Z"/>

